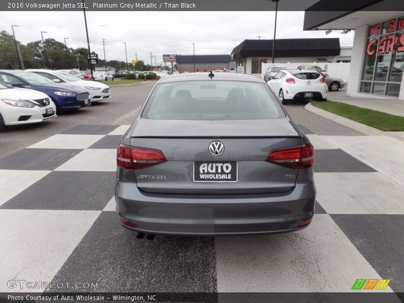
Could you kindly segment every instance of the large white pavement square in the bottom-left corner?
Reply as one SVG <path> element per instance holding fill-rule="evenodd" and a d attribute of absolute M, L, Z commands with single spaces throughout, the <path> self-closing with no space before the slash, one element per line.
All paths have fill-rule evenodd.
<path fill-rule="evenodd" d="M 8 280 L 51 282 L 99 211 L 0 210 L 0 291 Z"/>

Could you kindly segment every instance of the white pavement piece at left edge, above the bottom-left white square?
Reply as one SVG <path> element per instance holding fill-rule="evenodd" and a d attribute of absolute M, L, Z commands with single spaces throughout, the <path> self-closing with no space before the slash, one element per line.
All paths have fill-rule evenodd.
<path fill-rule="evenodd" d="M 0 170 L 0 206 L 50 172 Z"/>

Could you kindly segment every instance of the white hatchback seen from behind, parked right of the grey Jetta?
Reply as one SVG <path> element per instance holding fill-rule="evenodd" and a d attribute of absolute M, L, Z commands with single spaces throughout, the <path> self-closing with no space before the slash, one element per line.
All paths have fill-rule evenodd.
<path fill-rule="evenodd" d="M 281 70 L 268 82 L 283 104 L 296 99 L 327 100 L 325 77 L 312 70 Z"/>

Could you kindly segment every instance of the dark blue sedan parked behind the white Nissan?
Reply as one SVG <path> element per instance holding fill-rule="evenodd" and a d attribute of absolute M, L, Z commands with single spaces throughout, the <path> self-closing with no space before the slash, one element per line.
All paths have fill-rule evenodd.
<path fill-rule="evenodd" d="M 59 111 L 78 110 L 90 105 L 90 94 L 87 90 L 70 83 L 55 83 L 31 72 L 0 70 L 0 83 L 45 93 L 55 103 L 57 114 Z"/>

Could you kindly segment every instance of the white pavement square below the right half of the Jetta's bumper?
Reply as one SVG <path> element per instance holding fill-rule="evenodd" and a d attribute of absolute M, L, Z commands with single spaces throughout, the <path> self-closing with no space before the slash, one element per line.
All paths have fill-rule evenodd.
<path fill-rule="evenodd" d="M 215 242 L 218 292 L 349 292 L 359 277 L 380 279 L 327 214 L 298 232 Z"/>

